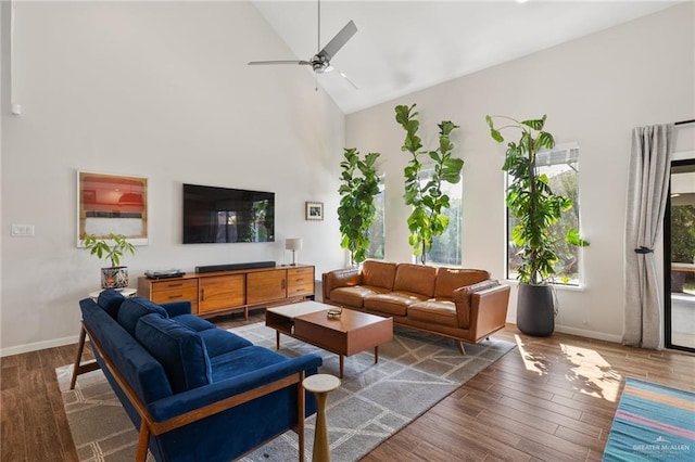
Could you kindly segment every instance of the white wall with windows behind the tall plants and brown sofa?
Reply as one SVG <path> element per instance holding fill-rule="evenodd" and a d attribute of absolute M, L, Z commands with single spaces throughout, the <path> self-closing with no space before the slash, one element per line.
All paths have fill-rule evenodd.
<path fill-rule="evenodd" d="M 548 115 L 556 142 L 580 145 L 585 286 L 560 290 L 557 330 L 619 342 L 622 334 L 623 229 L 631 129 L 695 117 L 695 4 L 568 42 L 475 75 L 351 114 L 346 144 L 382 153 L 387 176 L 388 260 L 407 261 L 403 205 L 403 130 L 396 104 L 417 103 L 425 145 L 435 124 L 460 125 L 454 141 L 464 166 L 464 266 L 504 278 L 504 145 L 489 134 L 486 114 Z M 677 129 L 677 151 L 695 146 L 695 126 Z M 508 319 L 516 319 L 513 290 Z"/>

